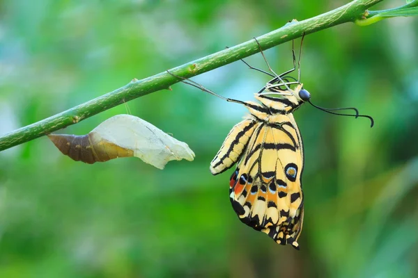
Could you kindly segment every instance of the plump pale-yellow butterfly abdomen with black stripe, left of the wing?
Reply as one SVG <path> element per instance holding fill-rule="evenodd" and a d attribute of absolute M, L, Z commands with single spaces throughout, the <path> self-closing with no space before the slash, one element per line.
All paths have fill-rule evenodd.
<path fill-rule="evenodd" d="M 247 117 L 238 124 L 235 124 L 228 136 L 226 136 L 221 149 L 210 163 L 210 172 L 220 174 L 231 168 L 238 161 L 242 152 L 247 148 L 249 139 L 254 129 L 260 123 L 253 116 Z"/>

